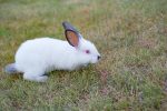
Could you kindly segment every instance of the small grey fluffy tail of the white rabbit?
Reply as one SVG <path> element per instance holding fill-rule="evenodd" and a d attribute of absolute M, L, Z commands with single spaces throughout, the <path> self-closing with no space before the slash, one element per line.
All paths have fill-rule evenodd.
<path fill-rule="evenodd" d="M 4 72 L 6 72 L 6 73 L 9 73 L 9 74 L 17 73 L 18 70 L 17 70 L 17 68 L 16 68 L 16 64 L 14 64 L 14 63 L 11 63 L 11 64 L 6 65 Z"/>

